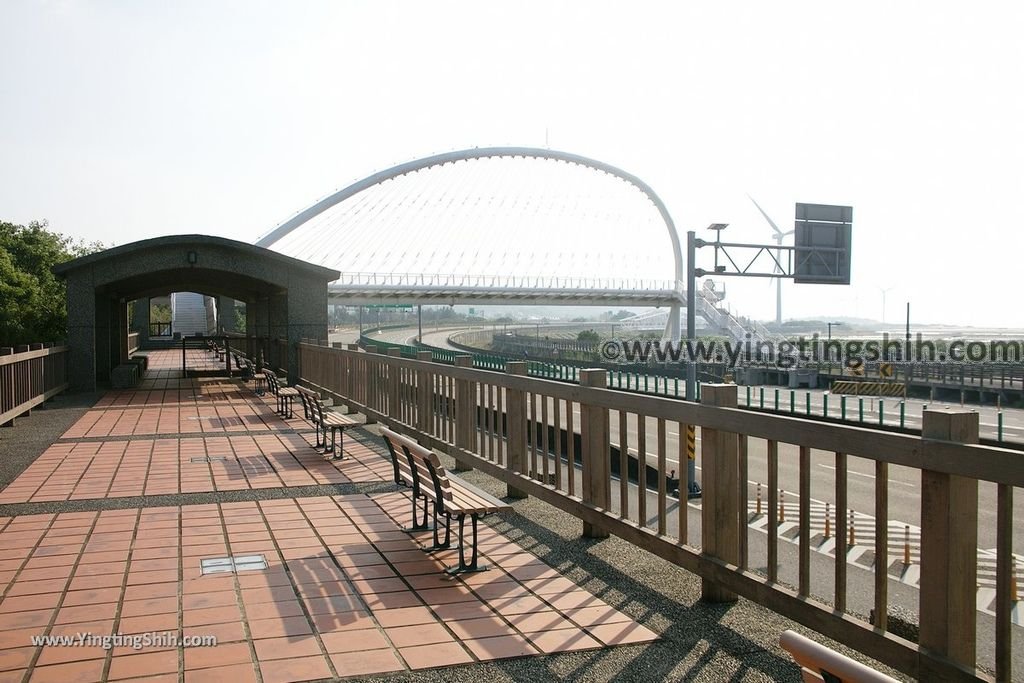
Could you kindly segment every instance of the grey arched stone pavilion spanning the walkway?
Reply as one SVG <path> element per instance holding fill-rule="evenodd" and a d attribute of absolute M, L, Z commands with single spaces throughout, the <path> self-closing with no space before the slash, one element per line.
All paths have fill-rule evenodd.
<path fill-rule="evenodd" d="M 202 234 L 142 240 L 53 267 L 68 283 L 72 388 L 91 390 L 127 360 L 129 301 L 200 292 L 245 301 L 247 333 L 297 344 L 327 336 L 327 284 L 337 270 L 244 242 Z"/>

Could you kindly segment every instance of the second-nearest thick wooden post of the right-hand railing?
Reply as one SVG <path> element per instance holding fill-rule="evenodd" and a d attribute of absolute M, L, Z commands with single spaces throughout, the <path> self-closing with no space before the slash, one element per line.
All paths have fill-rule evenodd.
<path fill-rule="evenodd" d="M 705 405 L 736 408 L 734 384 L 705 384 Z M 739 509 L 739 437 L 732 432 L 701 427 L 703 504 L 700 508 L 700 545 L 706 555 L 730 564 L 739 563 L 739 535 L 745 528 Z M 700 595 L 709 602 L 734 602 L 737 598 L 716 584 L 701 579 Z"/>

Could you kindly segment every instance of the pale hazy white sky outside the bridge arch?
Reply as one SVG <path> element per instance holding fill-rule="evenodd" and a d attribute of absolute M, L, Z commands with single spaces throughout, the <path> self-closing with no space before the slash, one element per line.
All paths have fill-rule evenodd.
<path fill-rule="evenodd" d="M 547 135 L 681 232 L 769 239 L 746 194 L 783 229 L 852 205 L 852 286 L 786 284 L 786 317 L 880 318 L 892 287 L 890 322 L 1024 327 L 1022 33 L 1011 2 L 5 0 L 0 219 L 253 242 L 375 170 Z M 727 287 L 774 317 L 773 285 Z"/>

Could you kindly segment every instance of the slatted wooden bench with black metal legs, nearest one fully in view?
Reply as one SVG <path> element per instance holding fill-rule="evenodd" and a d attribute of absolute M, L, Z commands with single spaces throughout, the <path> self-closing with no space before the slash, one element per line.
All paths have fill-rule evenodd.
<path fill-rule="evenodd" d="M 452 548 L 452 520 L 459 522 L 459 564 L 449 567 L 450 574 L 469 571 L 483 571 L 485 564 L 478 562 L 477 553 L 477 522 L 494 512 L 511 510 L 512 506 L 500 501 L 490 494 L 480 490 L 468 481 L 452 476 L 444 471 L 437 454 L 425 449 L 412 439 L 401 443 L 409 458 L 410 470 L 415 473 L 419 484 L 419 493 L 433 503 L 434 545 L 425 548 L 427 552 L 447 550 Z M 415 498 L 414 498 L 415 501 Z M 472 555 L 466 559 L 466 517 L 470 518 L 473 527 L 473 539 L 470 544 Z M 438 519 L 444 519 L 444 541 L 437 533 Z"/>

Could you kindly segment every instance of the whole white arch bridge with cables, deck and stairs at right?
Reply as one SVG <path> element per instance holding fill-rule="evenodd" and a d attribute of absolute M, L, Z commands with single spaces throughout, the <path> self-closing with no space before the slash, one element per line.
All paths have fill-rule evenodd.
<path fill-rule="evenodd" d="M 665 307 L 679 338 L 683 256 L 665 203 L 603 162 L 531 147 L 452 152 L 374 173 L 257 246 L 334 268 L 334 303 Z M 701 290 L 697 313 L 752 329 Z"/>

